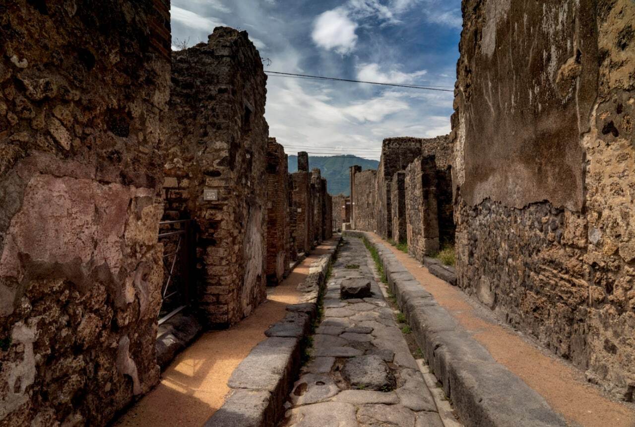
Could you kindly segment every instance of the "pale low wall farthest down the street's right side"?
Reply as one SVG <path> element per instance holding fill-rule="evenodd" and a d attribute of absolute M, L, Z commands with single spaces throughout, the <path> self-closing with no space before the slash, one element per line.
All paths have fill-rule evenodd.
<path fill-rule="evenodd" d="M 364 170 L 354 173 L 352 212 L 355 229 L 377 230 L 377 171 Z"/>

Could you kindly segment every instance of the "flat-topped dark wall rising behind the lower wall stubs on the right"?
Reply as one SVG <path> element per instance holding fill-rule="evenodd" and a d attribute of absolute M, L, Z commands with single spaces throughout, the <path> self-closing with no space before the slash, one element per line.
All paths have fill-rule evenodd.
<path fill-rule="evenodd" d="M 382 156 L 377 169 L 377 234 L 392 238 L 391 181 L 392 175 L 421 155 L 422 139 L 387 138 L 382 143 Z"/>

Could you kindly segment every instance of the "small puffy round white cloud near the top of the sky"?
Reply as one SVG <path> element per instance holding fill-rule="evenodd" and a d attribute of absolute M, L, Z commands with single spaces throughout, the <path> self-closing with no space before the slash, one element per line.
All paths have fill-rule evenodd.
<path fill-rule="evenodd" d="M 357 27 L 344 9 L 328 10 L 315 20 L 311 37 L 321 48 L 345 55 L 355 48 Z"/>

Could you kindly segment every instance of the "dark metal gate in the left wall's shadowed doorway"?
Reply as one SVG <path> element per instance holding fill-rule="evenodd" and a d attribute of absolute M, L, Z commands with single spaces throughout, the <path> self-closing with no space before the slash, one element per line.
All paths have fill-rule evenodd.
<path fill-rule="evenodd" d="M 163 286 L 159 325 L 190 306 L 194 281 L 194 220 L 159 222 L 163 243 Z"/>

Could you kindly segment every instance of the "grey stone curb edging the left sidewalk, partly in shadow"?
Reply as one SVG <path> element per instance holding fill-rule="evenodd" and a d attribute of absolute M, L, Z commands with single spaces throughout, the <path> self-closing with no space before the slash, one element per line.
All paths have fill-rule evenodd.
<path fill-rule="evenodd" d="M 304 338 L 318 316 L 319 294 L 340 241 L 309 267 L 298 285 L 300 303 L 288 306 L 287 315 L 265 331 L 267 339 L 234 369 L 227 381 L 229 395 L 205 427 L 274 426 L 284 415 L 284 402 L 300 372 Z"/>

